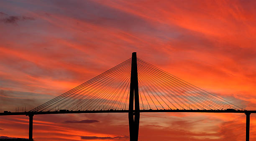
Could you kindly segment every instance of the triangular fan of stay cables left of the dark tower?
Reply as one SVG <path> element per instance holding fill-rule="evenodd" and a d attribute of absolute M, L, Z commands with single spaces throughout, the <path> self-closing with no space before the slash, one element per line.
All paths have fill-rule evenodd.
<path fill-rule="evenodd" d="M 130 81 L 131 58 L 34 108 L 31 112 L 128 110 Z"/>

